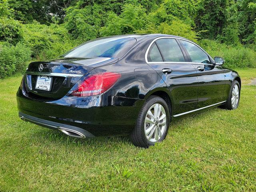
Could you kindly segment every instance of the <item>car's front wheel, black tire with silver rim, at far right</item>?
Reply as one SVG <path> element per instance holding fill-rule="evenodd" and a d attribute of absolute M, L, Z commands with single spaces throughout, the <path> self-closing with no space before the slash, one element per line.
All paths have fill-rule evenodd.
<path fill-rule="evenodd" d="M 236 99 L 236 104 L 234 104 L 233 102 L 233 98 L 234 98 L 234 89 L 237 88 L 237 91 L 238 93 L 236 93 L 235 95 L 235 99 Z M 228 109 L 228 110 L 233 110 L 233 109 L 236 109 L 238 108 L 238 105 L 239 105 L 239 101 L 240 101 L 240 84 L 238 83 L 237 80 L 234 80 L 232 85 L 231 85 L 231 88 L 230 88 L 230 92 L 229 92 L 229 95 L 228 95 L 228 100 L 227 102 L 221 106 L 221 108 L 224 108 L 224 109 Z"/>

